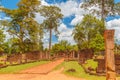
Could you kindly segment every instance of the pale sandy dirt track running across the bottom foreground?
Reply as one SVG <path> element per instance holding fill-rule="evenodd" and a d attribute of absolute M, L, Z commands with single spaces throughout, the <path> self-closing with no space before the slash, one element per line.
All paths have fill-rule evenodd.
<path fill-rule="evenodd" d="M 61 70 L 50 72 L 48 74 L 4 74 L 0 75 L 0 80 L 84 80 L 65 76 Z"/>

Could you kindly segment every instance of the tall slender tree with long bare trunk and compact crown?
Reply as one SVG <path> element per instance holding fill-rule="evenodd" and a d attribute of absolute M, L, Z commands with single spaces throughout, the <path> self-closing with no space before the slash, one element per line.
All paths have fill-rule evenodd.
<path fill-rule="evenodd" d="M 44 29 L 49 31 L 50 34 L 49 50 L 50 50 L 52 30 L 58 33 L 57 28 L 60 25 L 60 20 L 62 19 L 63 15 L 61 14 L 61 9 L 56 6 L 42 6 L 40 8 L 40 14 L 46 18 L 43 21 L 42 26 L 44 27 Z"/>

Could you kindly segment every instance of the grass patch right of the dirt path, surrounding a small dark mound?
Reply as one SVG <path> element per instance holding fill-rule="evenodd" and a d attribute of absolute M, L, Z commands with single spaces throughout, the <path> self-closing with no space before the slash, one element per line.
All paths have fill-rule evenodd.
<path fill-rule="evenodd" d="M 83 78 L 86 80 L 105 80 L 105 77 L 103 76 L 94 76 L 86 74 L 77 61 L 63 62 L 61 65 L 57 66 L 54 70 L 60 69 L 62 67 L 64 67 L 63 73 L 68 76 Z M 69 69 L 75 69 L 76 72 L 68 72 L 67 70 Z"/>

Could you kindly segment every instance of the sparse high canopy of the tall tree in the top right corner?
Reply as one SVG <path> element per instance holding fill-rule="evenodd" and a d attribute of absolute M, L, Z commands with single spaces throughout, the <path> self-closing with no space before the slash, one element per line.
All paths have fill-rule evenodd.
<path fill-rule="evenodd" d="M 115 4 L 114 0 L 83 0 L 82 8 L 88 9 L 89 7 L 97 6 L 101 10 L 92 10 L 92 14 L 96 13 L 101 16 L 101 19 L 105 19 L 108 15 L 114 15 L 119 13 L 119 3 Z M 120 6 L 119 6 L 120 7 Z"/>

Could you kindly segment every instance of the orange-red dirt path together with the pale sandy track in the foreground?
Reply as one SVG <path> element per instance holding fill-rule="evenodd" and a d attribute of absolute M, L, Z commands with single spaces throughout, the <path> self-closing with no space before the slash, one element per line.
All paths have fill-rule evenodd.
<path fill-rule="evenodd" d="M 64 59 L 60 59 L 20 72 L 23 74 L 0 74 L 0 80 L 84 80 L 65 76 L 61 73 L 63 68 L 61 70 L 51 72 L 53 68 L 61 64 L 63 61 Z"/>

